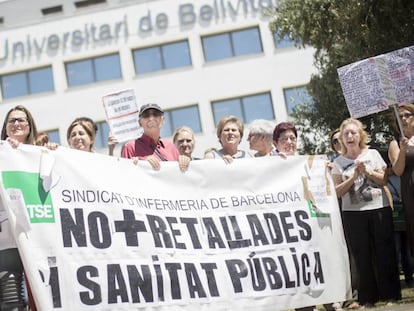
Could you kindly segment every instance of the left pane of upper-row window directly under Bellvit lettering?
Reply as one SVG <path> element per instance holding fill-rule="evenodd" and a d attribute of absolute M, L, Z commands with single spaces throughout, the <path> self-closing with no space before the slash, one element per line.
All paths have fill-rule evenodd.
<path fill-rule="evenodd" d="M 233 56 L 228 33 L 203 38 L 204 59 L 210 62 Z"/>

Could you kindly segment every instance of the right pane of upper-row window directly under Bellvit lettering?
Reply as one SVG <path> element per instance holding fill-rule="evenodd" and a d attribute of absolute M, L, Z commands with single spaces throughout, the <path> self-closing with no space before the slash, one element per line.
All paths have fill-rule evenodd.
<path fill-rule="evenodd" d="M 258 28 L 235 31 L 232 33 L 234 55 L 262 52 L 262 42 Z"/>

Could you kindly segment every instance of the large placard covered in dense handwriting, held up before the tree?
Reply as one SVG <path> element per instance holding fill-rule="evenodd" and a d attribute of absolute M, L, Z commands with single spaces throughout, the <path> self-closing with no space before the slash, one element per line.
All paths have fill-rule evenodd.
<path fill-rule="evenodd" d="M 338 68 L 339 81 L 353 118 L 414 102 L 414 46 Z"/>

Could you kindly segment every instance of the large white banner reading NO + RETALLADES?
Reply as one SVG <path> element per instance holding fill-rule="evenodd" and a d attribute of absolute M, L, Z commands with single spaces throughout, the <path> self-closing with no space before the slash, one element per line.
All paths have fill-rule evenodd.
<path fill-rule="evenodd" d="M 286 310 L 343 301 L 325 157 L 146 161 L 0 145 L 2 198 L 40 310 Z M 26 212 L 27 211 L 27 212 Z M 348 296 L 349 297 L 349 296 Z"/>

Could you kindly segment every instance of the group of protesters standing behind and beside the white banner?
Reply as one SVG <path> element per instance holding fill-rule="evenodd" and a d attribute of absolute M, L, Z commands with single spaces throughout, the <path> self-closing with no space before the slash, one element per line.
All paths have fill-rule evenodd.
<path fill-rule="evenodd" d="M 407 234 L 414 250 L 414 104 L 400 107 L 399 113 L 404 133 L 401 133 L 401 139 L 390 143 L 389 160 L 393 172 L 401 176 Z M 180 127 L 175 130 L 171 142 L 160 137 L 163 124 L 164 111 L 158 104 L 143 105 L 139 111 L 143 134 L 122 146 L 121 157 L 135 163 L 145 160 L 155 170 L 161 168 L 162 161 L 176 161 L 180 170 L 187 170 L 191 161 L 199 160 L 193 157 L 193 131 L 187 126 Z M 97 127 L 90 118 L 77 118 L 68 127 L 68 144 L 74 149 L 93 152 L 96 132 Z M 268 120 L 253 121 L 247 141 L 254 154 L 240 149 L 243 134 L 244 125 L 237 117 L 222 118 L 217 125 L 220 147 L 206 150 L 203 159 L 222 159 L 231 163 L 246 157 L 288 157 L 297 152 L 298 133 L 291 122 L 274 126 Z M 23 106 L 16 106 L 7 113 L 1 139 L 13 147 L 21 143 L 57 148 L 48 141 L 47 135 L 37 132 L 32 115 Z M 372 307 L 380 300 L 394 303 L 401 299 L 392 202 L 386 191 L 387 165 L 377 150 L 369 148 L 368 139 L 359 120 L 343 121 L 330 135 L 336 156 L 328 164 L 350 254 L 352 286 L 358 293 L 359 304 L 353 307 L 364 308 Z M 113 136 L 109 137 L 110 155 L 117 143 Z M 340 310 L 341 304 L 326 305 L 325 308 Z"/>

